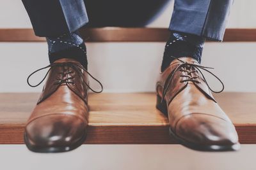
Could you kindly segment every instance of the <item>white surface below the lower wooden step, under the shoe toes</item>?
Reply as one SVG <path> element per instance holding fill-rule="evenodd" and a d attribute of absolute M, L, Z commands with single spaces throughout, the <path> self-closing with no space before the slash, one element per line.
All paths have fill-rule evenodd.
<path fill-rule="evenodd" d="M 207 153 L 180 145 L 83 145 L 68 153 L 31 153 L 24 145 L 0 146 L 3 170 L 255 170 L 256 146 Z"/>

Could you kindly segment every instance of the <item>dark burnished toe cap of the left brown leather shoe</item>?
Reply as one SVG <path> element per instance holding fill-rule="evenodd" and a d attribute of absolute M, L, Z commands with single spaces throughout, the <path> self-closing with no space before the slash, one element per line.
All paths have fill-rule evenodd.
<path fill-rule="evenodd" d="M 84 122 L 73 115 L 47 115 L 36 118 L 26 126 L 27 145 L 36 148 L 75 145 L 86 136 Z"/>

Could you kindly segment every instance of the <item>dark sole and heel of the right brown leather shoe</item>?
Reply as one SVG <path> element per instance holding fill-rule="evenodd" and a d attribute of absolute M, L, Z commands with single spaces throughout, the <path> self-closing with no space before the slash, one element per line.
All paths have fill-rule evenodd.
<path fill-rule="evenodd" d="M 168 108 L 166 101 L 163 101 L 161 103 L 161 97 L 157 95 L 157 104 L 156 104 L 157 110 L 161 111 L 166 117 L 168 117 Z M 190 148 L 192 150 L 197 151 L 205 151 L 205 152 L 225 152 L 225 151 L 237 151 L 241 148 L 240 143 L 236 143 L 234 145 L 198 145 L 197 143 L 191 143 L 189 141 L 186 141 L 183 138 L 180 138 L 175 134 L 172 129 L 169 129 L 169 135 L 176 139 L 180 145 L 186 146 L 187 148 Z"/>

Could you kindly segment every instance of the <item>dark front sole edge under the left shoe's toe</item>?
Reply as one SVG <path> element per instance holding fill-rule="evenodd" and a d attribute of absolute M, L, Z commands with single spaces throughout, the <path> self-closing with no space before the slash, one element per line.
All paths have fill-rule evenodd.
<path fill-rule="evenodd" d="M 36 152 L 36 153 L 60 153 L 60 152 L 69 152 L 71 150 L 74 150 L 78 148 L 79 146 L 83 145 L 84 141 L 86 140 L 87 137 L 87 132 L 84 133 L 83 137 L 79 139 L 76 143 L 70 146 L 52 146 L 52 147 L 47 147 L 47 146 L 35 146 L 31 145 L 28 141 L 28 136 L 26 132 L 24 132 L 24 143 L 26 144 L 27 148 L 31 152 Z"/>

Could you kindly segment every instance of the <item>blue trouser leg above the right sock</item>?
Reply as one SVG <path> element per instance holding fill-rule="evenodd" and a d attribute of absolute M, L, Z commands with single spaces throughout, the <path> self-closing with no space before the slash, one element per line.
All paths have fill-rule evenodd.
<path fill-rule="evenodd" d="M 171 31 L 222 41 L 234 0 L 175 0 Z"/>

